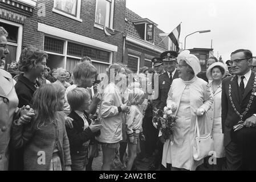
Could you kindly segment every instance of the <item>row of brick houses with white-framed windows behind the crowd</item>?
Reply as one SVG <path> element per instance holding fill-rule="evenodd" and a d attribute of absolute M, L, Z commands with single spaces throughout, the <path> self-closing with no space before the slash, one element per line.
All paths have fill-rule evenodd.
<path fill-rule="evenodd" d="M 134 72 L 152 67 L 151 59 L 173 44 L 169 38 L 161 42 L 167 34 L 125 5 L 125 0 L 0 0 L 0 26 L 9 32 L 6 65 L 32 45 L 48 53 L 50 68 L 72 71 L 83 56 L 92 58 L 99 73 L 116 62 Z M 104 26 L 120 33 L 107 36 Z"/>

